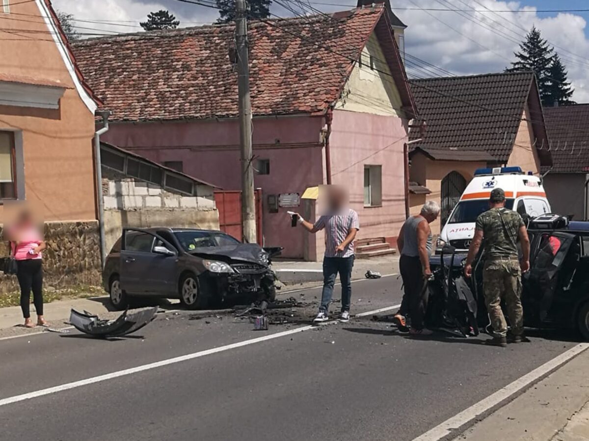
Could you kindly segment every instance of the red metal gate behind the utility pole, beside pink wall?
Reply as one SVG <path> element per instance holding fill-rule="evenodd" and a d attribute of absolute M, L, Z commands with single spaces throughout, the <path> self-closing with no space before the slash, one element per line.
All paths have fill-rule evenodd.
<path fill-rule="evenodd" d="M 215 203 L 219 210 L 219 226 L 221 231 L 236 239 L 243 239 L 241 228 L 241 192 L 217 191 Z M 257 242 L 263 245 L 262 233 L 262 189 L 256 190 L 256 235 Z"/>

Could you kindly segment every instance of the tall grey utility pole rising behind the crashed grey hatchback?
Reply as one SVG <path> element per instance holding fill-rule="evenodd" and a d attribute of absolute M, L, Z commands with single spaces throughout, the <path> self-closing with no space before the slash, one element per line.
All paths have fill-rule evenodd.
<path fill-rule="evenodd" d="M 252 102 L 250 101 L 246 0 L 236 0 L 235 6 L 239 143 L 241 150 L 241 225 L 244 242 L 256 243 L 256 201 L 252 164 Z"/>

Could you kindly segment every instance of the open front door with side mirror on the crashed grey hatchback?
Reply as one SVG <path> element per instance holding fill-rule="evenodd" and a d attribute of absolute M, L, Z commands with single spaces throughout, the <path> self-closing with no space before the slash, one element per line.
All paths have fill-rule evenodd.
<path fill-rule="evenodd" d="M 175 283 L 174 246 L 151 231 L 131 228 L 123 230 L 122 242 L 121 288 L 135 295 L 166 295 Z"/>

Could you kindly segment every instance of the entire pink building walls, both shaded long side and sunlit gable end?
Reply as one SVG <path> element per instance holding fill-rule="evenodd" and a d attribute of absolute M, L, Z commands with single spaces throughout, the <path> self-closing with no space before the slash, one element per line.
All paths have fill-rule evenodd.
<path fill-rule="evenodd" d="M 270 174 L 256 175 L 264 194 L 263 233 L 267 246 L 283 246 L 286 258 L 317 259 L 324 237 L 309 237 L 292 228 L 287 208 L 270 213 L 267 195 L 301 193 L 325 183 L 325 152 L 320 142 L 322 116 L 256 118 L 254 156 L 270 160 Z M 359 238 L 395 236 L 404 219 L 403 142 L 406 121 L 395 116 L 334 111 L 330 135 L 333 183 L 349 186 L 352 208 L 358 211 Z M 182 161 L 183 171 L 226 190 L 239 190 L 239 125 L 234 119 L 190 122 L 112 123 L 104 141 L 156 162 Z M 353 164 L 353 165 L 352 165 Z M 382 206 L 363 206 L 364 165 L 382 165 Z M 351 167 L 350 167 L 351 165 Z M 315 217 L 315 206 L 299 212 Z"/>

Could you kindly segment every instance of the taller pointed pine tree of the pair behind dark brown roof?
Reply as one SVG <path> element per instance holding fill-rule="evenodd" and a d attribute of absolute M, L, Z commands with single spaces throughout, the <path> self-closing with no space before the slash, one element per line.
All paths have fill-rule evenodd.
<path fill-rule="evenodd" d="M 540 31 L 532 26 L 528 32 L 525 41 L 519 44 L 520 52 L 514 52 L 517 61 L 512 62 L 511 68 L 505 69 L 506 72 L 534 71 L 538 79 L 538 88 L 540 89 L 540 98 L 542 104 L 548 103 L 548 87 L 550 86 L 550 66 L 554 55 L 554 48 L 548 45 L 548 42 L 542 38 Z"/>

